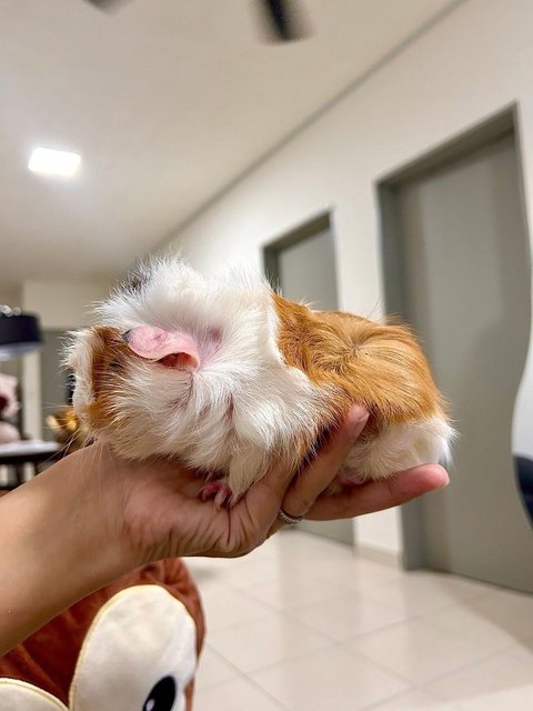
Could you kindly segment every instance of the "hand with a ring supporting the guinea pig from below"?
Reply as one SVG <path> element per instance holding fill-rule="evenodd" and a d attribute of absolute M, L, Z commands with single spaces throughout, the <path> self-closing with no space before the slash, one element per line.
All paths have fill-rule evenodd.
<path fill-rule="evenodd" d="M 366 419 L 364 411 L 354 408 L 298 477 L 274 467 L 231 509 L 202 501 L 203 482 L 198 475 L 168 460 L 125 462 L 103 444 L 86 449 L 83 457 L 98 463 L 90 469 L 92 477 L 101 478 L 92 487 L 105 494 L 99 507 L 108 512 L 105 530 L 110 541 L 121 541 L 131 567 L 179 555 L 232 558 L 253 550 L 283 525 L 278 519 L 280 508 L 312 520 L 351 518 L 404 503 L 447 483 L 442 467 L 426 464 L 386 481 L 324 494 Z"/>

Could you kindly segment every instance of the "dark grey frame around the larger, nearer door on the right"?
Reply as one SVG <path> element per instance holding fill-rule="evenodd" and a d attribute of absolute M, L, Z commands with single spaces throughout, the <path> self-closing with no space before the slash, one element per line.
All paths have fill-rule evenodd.
<path fill-rule="evenodd" d="M 527 229 L 527 211 L 525 207 L 525 186 L 517 107 L 515 103 L 477 123 L 473 128 L 455 136 L 434 150 L 410 161 L 392 173 L 379 179 L 375 183 L 376 201 L 380 213 L 381 270 L 386 313 L 401 318 L 406 313 L 404 283 L 406 264 L 404 236 L 400 219 L 399 189 L 408 181 L 424 178 L 440 171 L 446 166 L 469 160 L 474 153 L 499 142 L 506 137 L 514 137 L 519 163 L 520 200 L 524 219 L 525 234 Z M 400 508 L 403 539 L 403 568 L 413 570 L 426 563 L 423 541 L 422 499 L 415 499 Z"/>

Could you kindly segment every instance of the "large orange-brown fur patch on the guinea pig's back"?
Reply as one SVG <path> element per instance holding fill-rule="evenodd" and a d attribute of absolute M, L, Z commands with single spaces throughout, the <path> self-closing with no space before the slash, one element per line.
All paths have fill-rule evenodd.
<path fill-rule="evenodd" d="M 331 388 L 333 421 L 341 421 L 353 404 L 364 407 L 370 412 L 364 440 L 391 424 L 442 415 L 428 361 L 406 327 L 311 311 L 279 294 L 273 298 L 280 351 L 288 365 Z"/>

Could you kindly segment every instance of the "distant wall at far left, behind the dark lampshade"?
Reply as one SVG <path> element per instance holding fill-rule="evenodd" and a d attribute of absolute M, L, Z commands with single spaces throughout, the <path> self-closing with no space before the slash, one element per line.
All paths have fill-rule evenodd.
<path fill-rule="evenodd" d="M 47 330 L 70 330 L 90 323 L 90 306 L 103 299 L 109 284 L 101 281 L 26 281 L 21 288 L 24 311 L 39 314 Z M 41 364 L 39 353 L 22 359 L 24 433 L 42 437 Z"/>

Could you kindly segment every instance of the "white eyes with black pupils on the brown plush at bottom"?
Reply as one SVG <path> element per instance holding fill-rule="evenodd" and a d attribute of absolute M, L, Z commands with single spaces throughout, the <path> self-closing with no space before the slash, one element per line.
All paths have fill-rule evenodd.
<path fill-rule="evenodd" d="M 127 588 L 108 600 L 87 632 L 68 707 L 33 684 L 0 678 L 0 709 L 185 711 L 195 642 L 193 619 L 165 588 Z"/>

